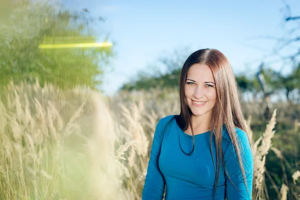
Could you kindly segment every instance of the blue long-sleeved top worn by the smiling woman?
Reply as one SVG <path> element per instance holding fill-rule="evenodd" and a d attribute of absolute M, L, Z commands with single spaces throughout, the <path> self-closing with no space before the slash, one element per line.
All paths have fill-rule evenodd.
<path fill-rule="evenodd" d="M 210 200 L 213 199 L 214 166 L 210 153 L 210 131 L 194 135 L 195 146 L 191 155 L 184 154 L 179 146 L 188 153 L 192 149 L 192 136 L 180 129 L 175 119 L 168 125 L 162 139 L 162 131 L 173 115 L 161 118 L 157 123 L 148 162 L 142 200 L 163 198 Z M 224 167 L 221 165 L 214 199 L 239 200 L 251 199 L 253 156 L 246 133 L 236 129 L 241 146 L 241 158 L 247 180 L 244 184 L 237 156 L 226 129 L 222 133 Z M 161 143 L 162 142 L 162 143 Z M 161 148 L 160 148 L 161 147 Z M 212 142 L 215 157 L 215 145 Z M 224 168 L 227 169 L 228 176 Z M 232 183 L 233 185 L 232 185 Z M 248 188 L 248 193 L 246 188 Z"/>

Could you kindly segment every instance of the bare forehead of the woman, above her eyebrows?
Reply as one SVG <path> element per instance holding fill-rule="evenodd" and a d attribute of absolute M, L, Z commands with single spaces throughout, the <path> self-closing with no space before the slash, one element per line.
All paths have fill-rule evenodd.
<path fill-rule="evenodd" d="M 191 65 L 187 70 L 186 78 L 193 80 L 214 80 L 213 74 L 209 66 L 202 63 L 195 63 Z"/>

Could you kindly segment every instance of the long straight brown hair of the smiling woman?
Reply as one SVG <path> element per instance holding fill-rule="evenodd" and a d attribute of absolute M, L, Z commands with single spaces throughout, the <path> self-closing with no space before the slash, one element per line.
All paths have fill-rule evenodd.
<path fill-rule="evenodd" d="M 237 154 L 238 163 L 242 171 L 242 176 L 244 183 L 247 188 L 247 182 L 244 172 L 244 167 L 241 161 L 241 152 L 240 146 L 236 138 L 235 127 L 240 128 L 241 130 L 246 132 L 246 125 L 244 122 L 244 116 L 241 111 L 241 106 L 238 99 L 238 91 L 237 91 L 237 83 L 235 80 L 235 76 L 233 74 L 232 67 L 229 64 L 229 61 L 225 57 L 223 53 L 216 49 L 200 49 L 193 52 L 188 56 L 186 61 L 183 64 L 180 75 L 179 82 L 179 94 L 180 94 L 180 114 L 175 116 L 176 122 L 179 127 L 185 131 L 188 128 L 188 125 L 191 129 L 192 139 L 193 139 L 193 147 L 189 153 L 185 153 L 182 148 L 182 152 L 186 155 L 191 155 L 194 151 L 194 133 L 191 124 L 191 110 L 189 109 L 186 98 L 184 85 L 187 76 L 187 71 L 192 64 L 195 63 L 203 63 L 206 64 L 212 71 L 212 74 L 215 79 L 216 84 L 216 102 L 214 107 L 212 108 L 211 122 L 210 126 L 210 153 L 213 159 L 212 154 L 212 137 L 214 138 L 215 147 L 216 147 L 216 162 L 213 159 L 214 170 L 215 170 L 215 180 L 214 180 L 214 188 L 213 188 L 213 196 L 216 191 L 217 181 L 219 178 L 219 172 L 221 163 L 224 164 L 223 160 L 223 150 L 222 150 L 222 126 L 225 124 L 225 127 L 228 131 L 229 137 L 232 141 L 234 150 Z M 251 138 L 249 138 L 249 134 L 247 133 L 247 137 L 250 143 L 251 151 L 252 144 Z M 180 146 L 181 147 L 181 146 Z M 254 157 L 254 156 L 253 156 Z M 253 160 L 254 161 L 254 160 Z M 216 164 L 215 164 L 216 163 Z M 227 173 L 227 171 L 225 170 Z M 254 172 L 254 169 L 253 169 Z M 228 174 L 227 174 L 228 175 Z M 229 177 L 229 175 L 228 175 Z M 231 181 L 231 180 L 230 180 Z M 252 179 L 252 196 L 255 192 L 254 187 L 254 174 Z M 249 191 L 247 191 L 249 194 Z"/>

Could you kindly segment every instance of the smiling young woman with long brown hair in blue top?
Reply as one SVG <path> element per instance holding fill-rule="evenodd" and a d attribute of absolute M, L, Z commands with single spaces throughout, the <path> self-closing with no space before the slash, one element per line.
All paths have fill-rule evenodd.
<path fill-rule="evenodd" d="M 193 52 L 179 84 L 180 114 L 158 121 L 142 200 L 251 199 L 251 140 L 227 58 Z"/>

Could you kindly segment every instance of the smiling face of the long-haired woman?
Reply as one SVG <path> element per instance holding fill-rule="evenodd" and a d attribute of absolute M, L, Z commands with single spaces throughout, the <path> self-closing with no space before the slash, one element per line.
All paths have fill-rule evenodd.
<path fill-rule="evenodd" d="M 211 69 L 206 64 L 191 65 L 184 87 L 186 102 L 192 114 L 211 116 L 216 100 L 216 87 Z"/>

